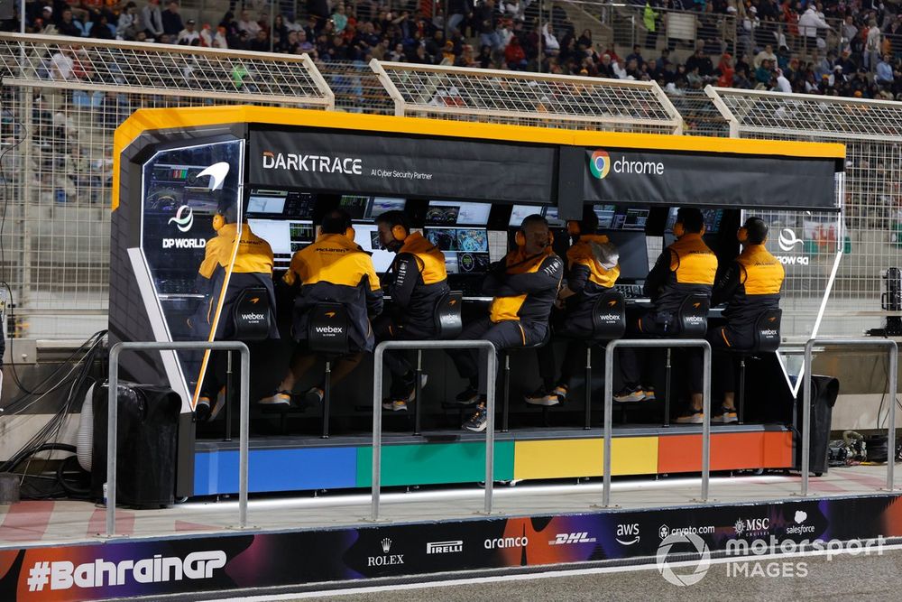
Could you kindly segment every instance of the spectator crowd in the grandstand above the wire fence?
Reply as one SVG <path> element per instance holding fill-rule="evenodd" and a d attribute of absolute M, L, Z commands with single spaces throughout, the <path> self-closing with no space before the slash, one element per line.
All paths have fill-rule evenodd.
<path fill-rule="evenodd" d="M 374 0 L 308 0 L 306 14 L 237 5 L 212 26 L 161 0 L 28 0 L 28 32 L 161 42 L 314 60 L 370 59 L 657 80 L 670 93 L 706 84 L 779 92 L 902 99 L 902 5 L 877 0 L 634 0 L 639 44 L 621 51 L 575 31 L 560 4 L 537 0 L 421 0 L 390 9 Z M 442 10 L 447 6 L 447 18 Z M 698 15 L 695 40 L 658 33 L 669 11 Z M 3 29 L 16 31 L 17 17 Z M 680 46 L 677 48 L 677 46 Z M 663 47 L 662 50 L 658 48 Z M 677 57 L 685 57 L 677 60 Z M 78 63 L 61 69 L 77 70 Z M 77 74 L 76 74 L 77 75 Z"/>

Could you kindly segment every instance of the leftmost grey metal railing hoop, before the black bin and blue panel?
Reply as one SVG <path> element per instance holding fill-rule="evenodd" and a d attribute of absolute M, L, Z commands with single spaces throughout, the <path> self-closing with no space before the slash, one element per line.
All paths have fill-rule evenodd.
<path fill-rule="evenodd" d="M 115 534 L 116 452 L 119 417 L 119 356 L 123 351 L 238 351 L 241 353 L 241 407 L 238 435 L 238 528 L 247 526 L 247 464 L 250 424 L 251 352 L 240 341 L 120 342 L 110 348 L 109 397 L 106 414 L 106 536 Z"/>

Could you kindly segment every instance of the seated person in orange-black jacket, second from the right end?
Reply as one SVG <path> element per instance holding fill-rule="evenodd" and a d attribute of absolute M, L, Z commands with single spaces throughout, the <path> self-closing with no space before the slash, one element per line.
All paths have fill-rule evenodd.
<path fill-rule="evenodd" d="M 711 296 L 717 273 L 717 257 L 704 244 L 704 217 L 697 208 L 684 207 L 676 213 L 674 236 L 649 272 L 644 292 L 651 299 L 651 309 L 635 322 L 628 322 L 631 335 L 664 336 L 676 327 L 676 313 L 691 294 Z M 702 421 L 702 366 L 701 355 L 695 349 L 687 352 L 689 358 L 690 409 L 676 419 L 677 422 L 700 423 Z M 695 357 L 698 355 L 698 357 Z M 614 395 L 618 402 L 638 402 L 654 399 L 653 389 L 640 384 L 640 353 L 635 348 L 621 352 L 623 388 Z M 651 394 L 647 394 L 647 392 Z"/>

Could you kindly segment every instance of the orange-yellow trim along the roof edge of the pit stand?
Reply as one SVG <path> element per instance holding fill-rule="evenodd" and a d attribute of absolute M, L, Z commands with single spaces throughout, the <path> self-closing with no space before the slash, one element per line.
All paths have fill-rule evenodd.
<path fill-rule="evenodd" d="M 532 144 L 571 144 L 694 153 L 738 153 L 843 159 L 845 146 L 833 143 L 740 140 L 668 134 L 582 132 L 526 125 L 480 124 L 419 117 L 334 113 L 282 107 L 176 107 L 140 109 L 116 128 L 113 138 L 113 209 L 119 207 L 119 155 L 148 130 L 236 123 L 326 127 L 355 132 L 433 135 Z"/>

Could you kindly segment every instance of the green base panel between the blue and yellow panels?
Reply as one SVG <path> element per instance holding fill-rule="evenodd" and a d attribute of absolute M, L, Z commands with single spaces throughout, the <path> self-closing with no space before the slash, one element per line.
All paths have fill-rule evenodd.
<path fill-rule="evenodd" d="M 373 486 L 373 449 L 357 448 L 357 486 Z M 382 448 L 382 485 L 475 483 L 485 479 L 485 444 L 419 443 Z M 494 480 L 513 479 L 513 441 L 495 442 Z"/>

